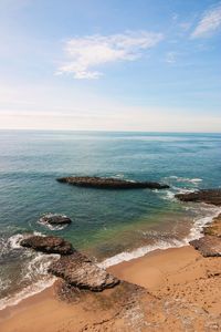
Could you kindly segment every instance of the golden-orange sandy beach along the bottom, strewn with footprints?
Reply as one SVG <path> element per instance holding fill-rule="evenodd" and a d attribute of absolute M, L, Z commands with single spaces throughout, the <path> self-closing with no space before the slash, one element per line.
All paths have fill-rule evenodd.
<path fill-rule="evenodd" d="M 119 286 L 93 293 L 61 281 L 0 312 L 3 332 L 220 331 L 221 259 L 191 246 L 109 268 Z"/>

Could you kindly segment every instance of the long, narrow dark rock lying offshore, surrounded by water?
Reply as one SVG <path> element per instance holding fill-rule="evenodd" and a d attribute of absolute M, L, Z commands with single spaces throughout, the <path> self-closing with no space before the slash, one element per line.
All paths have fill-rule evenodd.
<path fill-rule="evenodd" d="M 168 185 L 149 183 L 149 181 L 129 181 L 116 178 L 104 177 L 91 177 L 91 176 L 69 176 L 56 179 L 59 183 L 66 183 L 73 186 L 81 187 L 94 187 L 101 189 L 136 189 L 136 188 L 149 188 L 149 189 L 166 189 Z"/>

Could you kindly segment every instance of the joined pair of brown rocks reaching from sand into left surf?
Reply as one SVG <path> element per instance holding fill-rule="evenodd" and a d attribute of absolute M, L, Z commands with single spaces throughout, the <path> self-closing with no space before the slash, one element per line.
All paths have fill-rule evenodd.
<path fill-rule="evenodd" d="M 21 240 L 20 245 L 44 253 L 60 253 L 61 258 L 49 267 L 49 273 L 62 278 L 71 287 L 99 292 L 119 283 L 117 278 L 62 238 L 32 236 Z"/>

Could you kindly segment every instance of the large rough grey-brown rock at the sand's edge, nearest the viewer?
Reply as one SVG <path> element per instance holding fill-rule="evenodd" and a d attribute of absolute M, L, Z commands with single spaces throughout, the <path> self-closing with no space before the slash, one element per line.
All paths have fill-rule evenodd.
<path fill-rule="evenodd" d="M 117 278 L 107 273 L 78 251 L 61 257 L 50 266 L 49 272 L 63 278 L 71 286 L 91 291 L 103 291 L 119 283 Z"/>

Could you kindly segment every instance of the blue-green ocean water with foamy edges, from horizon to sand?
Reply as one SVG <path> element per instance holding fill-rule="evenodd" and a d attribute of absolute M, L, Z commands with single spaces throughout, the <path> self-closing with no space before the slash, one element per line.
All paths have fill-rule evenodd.
<path fill-rule="evenodd" d="M 0 309 L 53 283 L 57 256 L 24 250 L 30 234 L 56 235 L 103 267 L 200 237 L 220 212 L 175 194 L 221 186 L 221 134 L 0 131 Z M 105 190 L 60 184 L 90 175 L 167 183 L 170 189 Z M 72 225 L 46 228 L 45 212 Z"/>

